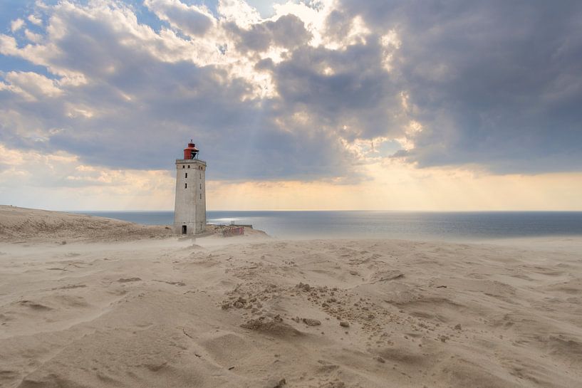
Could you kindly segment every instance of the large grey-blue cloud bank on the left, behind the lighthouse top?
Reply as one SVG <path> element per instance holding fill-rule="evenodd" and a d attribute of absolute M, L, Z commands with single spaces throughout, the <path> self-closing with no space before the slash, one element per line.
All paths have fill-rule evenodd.
<path fill-rule="evenodd" d="M 252 28 L 236 29 L 234 37 L 230 30 L 182 38 L 172 29 L 155 32 L 138 23 L 131 9 L 117 3 L 64 1 L 51 12 L 43 43 L 21 46 L 16 38 L 1 36 L 2 53 L 45 65 L 55 79 L 38 75 L 35 83 L 29 79 L 32 74 L 4 75 L 6 85 L 20 88 L 28 98 L 16 98 L 8 90 L 0 94 L 5 113 L 0 142 L 23 147 L 33 138 L 40 150 L 76 154 L 91 165 L 162 169 L 172 168 L 172 158 L 194 137 L 220 179 L 319 179 L 353 169 L 350 152 L 336 133 L 340 124 L 331 120 L 331 110 L 346 104 L 317 101 L 317 95 L 290 91 L 283 83 L 277 83 L 281 96 L 261 97 L 261 88 L 273 83 L 273 76 L 309 82 L 296 70 L 308 65 L 308 56 L 317 55 L 301 53 L 310 34 L 296 16 L 254 27 L 267 35 L 269 45 L 298 51 L 281 67 L 261 70 L 256 68 L 261 58 L 241 53 L 246 51 L 244 34 Z M 228 18 L 220 23 L 222 31 L 232 27 Z M 288 28 L 292 36 L 286 36 Z M 221 53 L 219 43 L 232 49 Z M 319 96 L 336 91 L 366 95 L 365 85 L 359 85 L 363 78 L 350 77 L 319 79 L 326 89 Z M 320 105 L 307 110 L 308 120 L 299 118 L 305 110 L 298 101 L 301 95 L 311 99 L 306 103 Z M 287 109 L 288 104 L 293 106 Z M 320 114 L 326 115 L 321 122 Z M 26 127 L 35 130 L 26 134 Z"/>

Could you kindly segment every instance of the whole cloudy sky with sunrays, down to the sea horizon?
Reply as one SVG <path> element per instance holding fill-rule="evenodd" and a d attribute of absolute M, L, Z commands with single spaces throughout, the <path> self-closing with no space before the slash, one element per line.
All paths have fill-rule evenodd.
<path fill-rule="evenodd" d="M 581 1 L 0 0 L 0 204 L 582 210 Z"/>

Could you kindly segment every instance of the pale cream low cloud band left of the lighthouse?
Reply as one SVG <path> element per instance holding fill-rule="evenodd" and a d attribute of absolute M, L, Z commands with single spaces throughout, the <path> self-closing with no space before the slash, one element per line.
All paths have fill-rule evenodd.
<path fill-rule="evenodd" d="M 0 145 L 3 204 L 64 210 L 171 209 L 174 182 L 167 171 L 93 167 L 66 152 Z"/>

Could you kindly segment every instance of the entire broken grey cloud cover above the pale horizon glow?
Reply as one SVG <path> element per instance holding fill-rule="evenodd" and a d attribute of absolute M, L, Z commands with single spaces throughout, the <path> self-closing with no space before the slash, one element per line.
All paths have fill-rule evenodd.
<path fill-rule="evenodd" d="M 160 170 L 193 137 L 234 181 L 367 179 L 390 158 L 581 169 L 578 3 L 145 7 L 159 28 L 118 1 L 60 1 L 0 34 L 2 55 L 43 69 L 0 73 L 0 144 Z"/>

